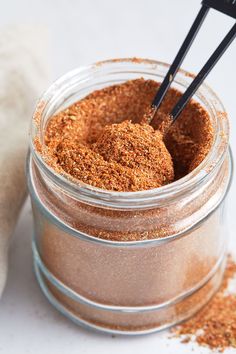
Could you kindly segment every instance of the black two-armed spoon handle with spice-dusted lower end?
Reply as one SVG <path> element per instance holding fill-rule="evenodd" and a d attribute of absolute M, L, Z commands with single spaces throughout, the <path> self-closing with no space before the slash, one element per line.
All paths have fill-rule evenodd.
<path fill-rule="evenodd" d="M 221 13 L 231 16 L 236 19 L 236 0 L 203 0 L 202 7 L 192 24 L 182 46 L 180 47 L 172 65 L 170 66 L 162 84 L 160 85 L 157 94 L 152 102 L 149 112 L 144 116 L 145 122 L 155 127 L 162 132 L 163 135 L 166 134 L 170 126 L 176 121 L 180 113 L 197 91 L 199 86 L 205 80 L 207 75 L 213 69 L 215 64 L 224 54 L 229 45 L 233 42 L 236 37 L 236 23 L 233 25 L 231 30 L 216 48 L 214 53 L 210 56 L 206 64 L 203 66 L 199 74 L 192 81 L 187 90 L 183 93 L 179 101 L 176 103 L 169 115 L 162 114 L 158 111 L 162 100 L 164 99 L 168 88 L 170 87 L 172 81 L 174 80 L 180 65 L 182 64 L 186 54 L 188 53 L 193 40 L 195 39 L 206 15 L 208 14 L 210 8 L 213 8 Z"/>

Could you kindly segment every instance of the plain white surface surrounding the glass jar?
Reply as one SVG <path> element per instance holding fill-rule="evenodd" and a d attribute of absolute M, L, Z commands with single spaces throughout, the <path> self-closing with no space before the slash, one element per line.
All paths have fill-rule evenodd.
<path fill-rule="evenodd" d="M 53 77 L 96 60 L 140 56 L 170 62 L 186 34 L 200 0 L 8 0 L 0 23 L 43 23 L 52 33 Z M 233 21 L 212 13 L 183 67 L 198 71 Z M 37 45 L 37 43 L 35 44 Z M 221 97 L 230 116 L 233 152 L 236 148 L 236 42 L 208 83 Z M 234 181 L 229 198 L 230 248 L 236 228 Z M 192 344 L 168 340 L 168 332 L 136 338 L 112 338 L 85 331 L 63 318 L 45 300 L 32 272 L 31 213 L 26 205 L 10 251 L 10 272 L 0 302 L 0 353 L 12 354 L 187 354 Z M 208 353 L 195 347 L 196 353 Z M 230 351 L 229 351 L 230 352 Z M 233 353 L 235 351 L 231 351 Z"/>

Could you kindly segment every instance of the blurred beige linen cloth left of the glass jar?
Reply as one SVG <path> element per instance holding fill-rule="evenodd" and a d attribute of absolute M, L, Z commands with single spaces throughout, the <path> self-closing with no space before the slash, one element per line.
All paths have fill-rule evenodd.
<path fill-rule="evenodd" d="M 0 296 L 10 239 L 26 196 L 29 121 L 48 85 L 46 37 L 34 26 L 0 31 Z"/>

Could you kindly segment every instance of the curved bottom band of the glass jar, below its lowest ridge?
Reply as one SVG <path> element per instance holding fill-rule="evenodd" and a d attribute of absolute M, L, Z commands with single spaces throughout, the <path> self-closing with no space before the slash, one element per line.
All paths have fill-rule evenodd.
<path fill-rule="evenodd" d="M 37 281 L 48 301 L 65 317 L 86 329 L 109 334 L 143 335 L 158 332 L 192 317 L 214 295 L 219 288 L 226 263 L 226 256 L 210 279 L 197 291 L 178 302 L 155 310 L 108 311 L 78 303 L 56 287 L 45 276 L 42 264 L 34 253 L 34 270 Z M 135 309 L 135 308 L 133 308 Z"/>

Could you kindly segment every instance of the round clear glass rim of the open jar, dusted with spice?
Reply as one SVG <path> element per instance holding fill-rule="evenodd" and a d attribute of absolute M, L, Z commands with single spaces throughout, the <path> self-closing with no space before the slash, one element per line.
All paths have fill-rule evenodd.
<path fill-rule="evenodd" d="M 30 150 L 33 160 L 40 171 L 72 198 L 92 205 L 117 209 L 138 209 L 158 206 L 159 204 L 163 206 L 163 201 L 166 204 L 171 203 L 182 193 L 186 193 L 198 187 L 203 181 L 207 181 L 214 173 L 215 168 L 224 160 L 228 148 L 229 124 L 223 104 L 214 91 L 205 83 L 201 85 L 193 98 L 204 105 L 212 120 L 215 134 L 211 149 L 201 164 L 192 172 L 165 186 L 136 192 L 116 192 L 96 188 L 80 181 L 74 182 L 53 170 L 35 149 L 35 136 L 38 136 L 41 141 L 43 139 L 41 117 L 55 113 L 52 112 L 52 106 L 55 104 L 55 97 L 58 98 L 62 92 L 64 95 L 68 95 L 69 89 L 78 83 L 83 85 L 84 82 L 89 82 L 89 80 L 91 82 L 94 78 L 99 79 L 104 75 L 109 79 L 111 74 L 119 75 L 124 72 L 132 73 L 136 77 L 143 76 L 145 72 L 148 75 L 152 75 L 152 79 L 155 79 L 155 72 L 158 71 L 156 77 L 159 77 L 160 80 L 160 76 L 164 77 L 168 69 L 169 64 L 151 59 L 111 59 L 72 70 L 56 80 L 39 99 L 31 124 Z M 193 74 L 180 69 L 174 83 L 186 88 L 193 77 Z M 110 86 L 114 83 L 107 81 L 107 84 L 107 86 Z M 93 90 L 97 89 L 96 84 L 95 87 L 93 84 L 91 87 Z M 63 103 L 63 100 L 61 103 Z"/>

